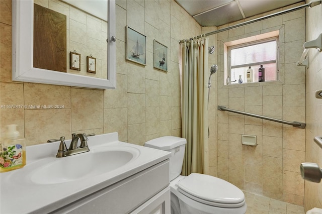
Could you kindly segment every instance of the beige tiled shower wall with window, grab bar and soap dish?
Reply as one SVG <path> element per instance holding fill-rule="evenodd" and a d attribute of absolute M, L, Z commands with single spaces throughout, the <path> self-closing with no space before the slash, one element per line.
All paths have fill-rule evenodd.
<path fill-rule="evenodd" d="M 218 105 L 305 123 L 305 68 L 295 64 L 305 41 L 304 16 L 304 10 L 300 10 L 216 35 Z M 229 26 L 234 24 L 237 23 Z M 280 32 L 279 81 L 224 85 L 223 43 L 275 30 Z M 218 167 L 218 177 L 248 192 L 303 205 L 304 181 L 300 176 L 299 164 L 305 161 L 305 130 L 217 111 L 217 104 L 212 106 L 217 116 L 218 135 L 217 139 L 213 138 L 217 159 L 213 158 L 213 163 L 209 164 Z M 242 145 L 243 134 L 256 135 L 258 145 Z"/>

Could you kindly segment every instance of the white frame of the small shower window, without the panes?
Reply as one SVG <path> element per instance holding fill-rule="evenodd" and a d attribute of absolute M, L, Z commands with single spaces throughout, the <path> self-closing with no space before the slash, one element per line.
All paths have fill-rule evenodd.
<path fill-rule="evenodd" d="M 237 49 L 237 48 L 243 48 L 243 47 L 248 47 L 248 46 L 252 46 L 252 45 L 257 45 L 257 44 L 261 44 L 261 43 L 266 43 L 266 42 L 271 42 L 271 41 L 275 41 L 276 42 L 276 47 L 275 47 L 275 51 L 276 51 L 276 59 L 275 60 L 268 60 L 268 61 L 261 61 L 261 62 L 256 62 L 256 63 L 247 63 L 247 64 L 240 64 L 240 65 L 234 65 L 231 66 L 231 50 L 232 49 Z M 279 70 L 278 70 L 278 60 L 279 60 L 279 35 L 278 36 L 273 36 L 273 37 L 268 37 L 265 39 L 261 39 L 261 40 L 256 40 L 256 41 L 251 41 L 251 42 L 244 42 L 244 43 L 240 43 L 237 45 L 230 45 L 227 46 L 227 77 L 230 78 L 231 77 L 231 69 L 233 68 L 239 68 L 239 67 L 248 67 L 248 66 L 254 66 L 254 65 L 259 65 L 259 64 L 268 64 L 268 63 L 274 63 L 276 64 L 276 69 L 275 69 L 275 74 L 276 74 L 276 79 L 275 80 L 270 80 L 270 81 L 278 81 L 279 80 Z"/>

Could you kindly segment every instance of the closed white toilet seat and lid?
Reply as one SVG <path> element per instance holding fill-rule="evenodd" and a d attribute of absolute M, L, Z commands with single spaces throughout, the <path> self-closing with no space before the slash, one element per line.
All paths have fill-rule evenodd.
<path fill-rule="evenodd" d="M 245 195 L 233 184 L 210 175 L 191 173 L 177 183 L 182 194 L 204 204 L 217 207 L 240 207 Z"/>

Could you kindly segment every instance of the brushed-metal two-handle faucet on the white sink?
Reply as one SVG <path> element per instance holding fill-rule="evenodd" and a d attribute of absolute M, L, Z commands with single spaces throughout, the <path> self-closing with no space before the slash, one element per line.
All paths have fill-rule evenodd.
<path fill-rule="evenodd" d="M 89 152 L 90 149 L 88 147 L 87 141 L 89 140 L 87 136 L 94 136 L 95 134 L 72 134 L 72 139 L 69 145 L 69 149 L 67 149 L 66 144 L 65 144 L 65 137 L 60 137 L 60 139 L 53 139 L 53 140 L 48 140 L 48 143 L 60 141 L 59 144 L 59 149 L 57 152 L 56 157 L 57 158 L 62 158 L 70 155 L 75 155 L 79 153 L 84 153 L 84 152 Z M 81 145 L 77 147 L 78 139 L 81 140 Z"/>

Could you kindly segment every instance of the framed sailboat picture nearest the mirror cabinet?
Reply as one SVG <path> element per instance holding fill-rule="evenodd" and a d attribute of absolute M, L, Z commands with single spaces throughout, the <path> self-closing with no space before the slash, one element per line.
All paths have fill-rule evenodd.
<path fill-rule="evenodd" d="M 126 59 L 146 65 L 146 36 L 126 26 Z"/>

